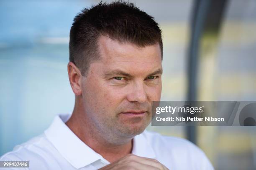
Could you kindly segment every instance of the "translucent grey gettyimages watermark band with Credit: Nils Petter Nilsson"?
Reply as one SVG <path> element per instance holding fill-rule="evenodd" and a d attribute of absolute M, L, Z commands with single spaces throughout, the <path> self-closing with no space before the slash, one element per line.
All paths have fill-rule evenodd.
<path fill-rule="evenodd" d="M 152 109 L 151 125 L 256 126 L 256 101 L 154 101 Z"/>

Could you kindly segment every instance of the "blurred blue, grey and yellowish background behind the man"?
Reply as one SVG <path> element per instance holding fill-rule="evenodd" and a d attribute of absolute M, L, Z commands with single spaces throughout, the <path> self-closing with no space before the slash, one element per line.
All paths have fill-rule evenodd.
<path fill-rule="evenodd" d="M 99 0 L 0 0 L 0 155 L 72 113 L 69 29 Z M 107 1 L 111 2 L 111 1 Z M 255 0 L 130 0 L 163 31 L 161 100 L 256 101 Z M 256 169 L 255 126 L 149 126 L 197 144 L 217 170 Z"/>

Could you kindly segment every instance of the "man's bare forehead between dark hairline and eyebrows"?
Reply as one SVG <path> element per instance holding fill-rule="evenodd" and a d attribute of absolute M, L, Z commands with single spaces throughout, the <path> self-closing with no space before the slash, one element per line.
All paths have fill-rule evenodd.
<path fill-rule="evenodd" d="M 111 64 L 124 62 L 133 65 L 161 65 L 161 50 L 159 44 L 138 47 L 130 42 L 119 42 L 109 37 L 101 36 L 98 41 L 100 60 Z"/>

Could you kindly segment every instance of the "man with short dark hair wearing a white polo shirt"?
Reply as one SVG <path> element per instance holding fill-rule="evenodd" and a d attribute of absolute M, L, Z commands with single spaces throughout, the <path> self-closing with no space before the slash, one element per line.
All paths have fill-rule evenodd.
<path fill-rule="evenodd" d="M 0 160 L 35 170 L 213 169 L 187 140 L 145 131 L 161 96 L 162 49 L 158 24 L 132 3 L 82 10 L 70 30 L 72 116 Z"/>

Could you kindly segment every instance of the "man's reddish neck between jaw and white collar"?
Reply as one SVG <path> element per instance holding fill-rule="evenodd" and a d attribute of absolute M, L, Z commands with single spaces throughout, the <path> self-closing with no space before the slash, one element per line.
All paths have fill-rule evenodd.
<path fill-rule="evenodd" d="M 125 139 L 122 143 L 110 143 L 104 138 L 97 128 L 90 124 L 86 114 L 83 113 L 82 107 L 79 107 L 79 102 L 76 97 L 76 104 L 70 119 L 66 122 L 72 132 L 88 145 L 96 153 L 102 155 L 103 158 L 110 163 L 118 160 L 132 151 L 132 139 Z"/>

